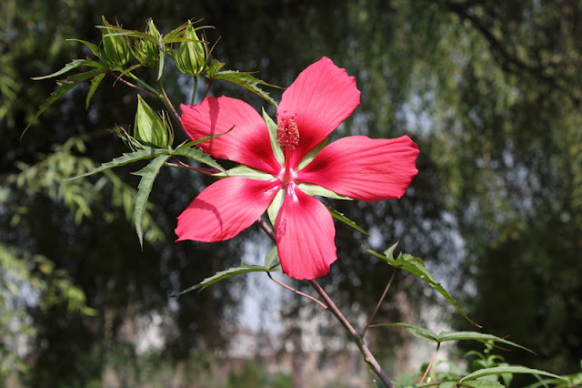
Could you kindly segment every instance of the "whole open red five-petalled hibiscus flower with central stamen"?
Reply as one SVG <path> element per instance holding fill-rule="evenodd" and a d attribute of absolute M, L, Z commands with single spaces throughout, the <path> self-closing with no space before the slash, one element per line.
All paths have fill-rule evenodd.
<path fill-rule="evenodd" d="M 407 136 L 351 136 L 318 147 L 359 101 L 356 79 L 324 57 L 283 93 L 276 127 L 236 98 L 207 97 L 199 105 L 183 105 L 188 136 L 204 138 L 232 128 L 198 146 L 246 168 L 232 169 L 196 197 L 178 217 L 177 240 L 230 239 L 269 208 L 283 272 L 298 280 L 326 275 L 336 260 L 336 229 L 329 210 L 311 195 L 397 199 L 418 172 L 418 148 Z"/>

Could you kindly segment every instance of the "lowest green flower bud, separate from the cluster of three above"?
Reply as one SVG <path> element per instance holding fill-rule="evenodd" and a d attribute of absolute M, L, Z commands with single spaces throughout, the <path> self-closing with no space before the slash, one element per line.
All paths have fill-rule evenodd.
<path fill-rule="evenodd" d="M 174 130 L 165 114 L 156 115 L 154 109 L 137 95 L 134 138 L 141 144 L 156 148 L 167 148 L 174 142 Z"/>

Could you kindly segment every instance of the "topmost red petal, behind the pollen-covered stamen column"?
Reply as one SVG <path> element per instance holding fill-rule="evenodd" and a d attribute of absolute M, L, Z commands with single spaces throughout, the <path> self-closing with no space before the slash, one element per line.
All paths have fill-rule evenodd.
<path fill-rule="evenodd" d="M 307 152 L 327 138 L 359 103 L 356 78 L 347 76 L 346 70 L 331 59 L 323 57 L 302 71 L 283 93 L 277 110 L 279 121 L 293 117 L 299 129 L 299 145 L 287 160 L 291 168 L 296 168 Z"/>

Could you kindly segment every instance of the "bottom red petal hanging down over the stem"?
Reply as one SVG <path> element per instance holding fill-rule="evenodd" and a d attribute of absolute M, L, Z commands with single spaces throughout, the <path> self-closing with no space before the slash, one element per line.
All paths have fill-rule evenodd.
<path fill-rule="evenodd" d="M 329 211 L 294 184 L 286 186 L 275 230 L 281 268 L 294 279 L 324 276 L 337 259 L 336 228 Z"/>

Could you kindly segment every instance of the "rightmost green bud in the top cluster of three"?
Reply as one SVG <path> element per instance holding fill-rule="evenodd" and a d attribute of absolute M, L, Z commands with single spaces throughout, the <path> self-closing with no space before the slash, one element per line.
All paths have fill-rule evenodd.
<path fill-rule="evenodd" d="M 208 46 L 196 36 L 192 24 L 188 24 L 184 37 L 188 39 L 180 43 L 174 51 L 174 63 L 181 73 L 196 76 L 206 69 L 208 60 Z"/>

